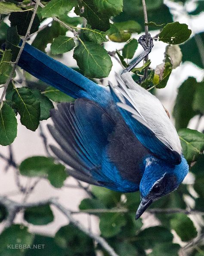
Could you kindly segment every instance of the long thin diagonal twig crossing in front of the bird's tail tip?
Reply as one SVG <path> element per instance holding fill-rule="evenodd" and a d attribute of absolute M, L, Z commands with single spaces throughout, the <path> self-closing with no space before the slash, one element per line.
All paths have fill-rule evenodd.
<path fill-rule="evenodd" d="M 9 75 L 9 78 L 7 79 L 7 81 L 6 81 L 5 85 L 4 85 L 4 90 L 3 90 L 3 93 L 2 93 L 1 98 L 0 98 L 0 104 L 1 104 L 1 106 L 2 106 L 2 104 L 3 104 L 3 97 L 4 97 L 5 94 L 6 94 L 7 87 L 8 87 L 8 85 L 9 85 L 10 81 L 12 80 L 12 77 L 13 77 L 13 75 L 14 75 L 15 69 L 16 69 L 16 67 L 17 67 L 17 64 L 18 64 L 19 59 L 20 59 L 21 54 L 22 54 L 22 51 L 23 51 L 23 49 L 24 49 L 25 43 L 26 43 L 26 41 L 27 41 L 27 39 L 28 39 L 28 37 L 29 37 L 29 35 L 30 35 L 31 27 L 32 27 L 32 25 L 33 25 L 34 18 L 35 18 L 35 15 L 36 15 L 36 12 L 37 12 L 37 8 L 38 8 L 39 4 L 40 4 L 40 0 L 37 0 L 37 1 L 36 1 L 36 4 L 35 4 L 35 7 L 34 7 L 34 11 L 33 11 L 32 17 L 31 17 L 31 21 L 30 21 L 30 23 L 29 23 L 27 32 L 26 32 L 26 34 L 25 34 L 25 37 L 24 37 L 24 39 L 23 39 L 21 48 L 20 48 L 20 50 L 19 50 L 19 54 L 18 54 L 18 56 L 17 56 L 17 58 L 16 58 L 16 61 L 15 61 L 14 65 L 13 65 L 13 68 L 12 68 L 12 70 L 11 70 L 11 73 L 10 73 L 10 75 Z M 0 106 L 0 107 L 1 107 L 1 106 Z"/>

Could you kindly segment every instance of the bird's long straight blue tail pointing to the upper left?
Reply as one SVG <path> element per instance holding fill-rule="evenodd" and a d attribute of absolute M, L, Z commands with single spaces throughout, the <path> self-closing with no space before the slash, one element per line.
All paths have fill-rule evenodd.
<path fill-rule="evenodd" d="M 27 43 L 18 65 L 34 77 L 73 98 L 83 97 L 97 102 L 99 96 L 106 91 L 105 87 L 97 85 L 77 71 L 50 58 Z"/>

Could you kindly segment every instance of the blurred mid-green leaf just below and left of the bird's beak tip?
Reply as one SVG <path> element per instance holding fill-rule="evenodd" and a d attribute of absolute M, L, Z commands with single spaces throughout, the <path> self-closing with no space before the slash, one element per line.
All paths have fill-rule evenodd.
<path fill-rule="evenodd" d="M 99 228 L 103 237 L 113 237 L 125 226 L 126 219 L 122 213 L 103 213 L 100 217 Z"/>

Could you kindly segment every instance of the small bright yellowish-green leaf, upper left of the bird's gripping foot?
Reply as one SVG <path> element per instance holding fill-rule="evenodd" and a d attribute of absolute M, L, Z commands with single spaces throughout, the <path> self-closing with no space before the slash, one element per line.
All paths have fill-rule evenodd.
<path fill-rule="evenodd" d="M 130 33 L 140 33 L 142 31 L 142 28 L 138 22 L 135 20 L 127 20 L 123 22 L 114 22 L 114 26 L 120 31 L 120 32 L 130 32 Z"/>

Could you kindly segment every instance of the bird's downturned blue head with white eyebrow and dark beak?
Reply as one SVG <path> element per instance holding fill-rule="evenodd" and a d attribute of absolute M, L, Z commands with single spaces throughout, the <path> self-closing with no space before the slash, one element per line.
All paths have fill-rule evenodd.
<path fill-rule="evenodd" d="M 170 165 L 164 160 L 148 157 L 145 160 L 145 171 L 139 185 L 141 202 L 136 212 L 136 219 L 152 202 L 177 189 L 188 172 L 189 165 L 184 157 L 179 165 Z"/>

